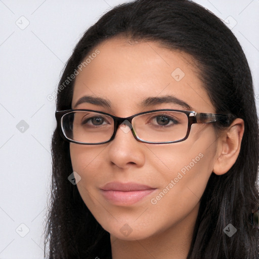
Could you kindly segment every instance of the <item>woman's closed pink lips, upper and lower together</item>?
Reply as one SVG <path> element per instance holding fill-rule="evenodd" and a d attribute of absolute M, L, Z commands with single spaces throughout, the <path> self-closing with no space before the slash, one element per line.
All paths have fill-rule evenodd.
<path fill-rule="evenodd" d="M 134 204 L 156 190 L 147 185 L 119 182 L 108 183 L 100 189 L 107 200 L 118 205 Z"/>

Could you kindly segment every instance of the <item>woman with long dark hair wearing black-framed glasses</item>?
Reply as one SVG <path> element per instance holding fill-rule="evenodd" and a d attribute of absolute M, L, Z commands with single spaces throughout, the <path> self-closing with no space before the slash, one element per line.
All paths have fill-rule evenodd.
<path fill-rule="evenodd" d="M 115 7 L 59 85 L 49 258 L 259 258 L 253 84 L 219 18 L 187 0 Z"/>

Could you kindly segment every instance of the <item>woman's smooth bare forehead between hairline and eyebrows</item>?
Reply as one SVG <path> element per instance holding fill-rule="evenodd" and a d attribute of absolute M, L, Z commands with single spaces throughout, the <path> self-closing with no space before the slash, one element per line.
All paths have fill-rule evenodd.
<path fill-rule="evenodd" d="M 112 38 L 93 48 L 83 61 L 77 69 L 72 108 L 79 98 L 91 95 L 108 99 L 111 111 L 131 115 L 148 97 L 173 95 L 198 112 L 214 112 L 191 56 L 162 48 L 158 42 Z"/>

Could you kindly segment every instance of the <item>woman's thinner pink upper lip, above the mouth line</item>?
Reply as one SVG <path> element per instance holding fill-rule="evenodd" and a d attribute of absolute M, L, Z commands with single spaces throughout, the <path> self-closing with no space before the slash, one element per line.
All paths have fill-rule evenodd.
<path fill-rule="evenodd" d="M 130 191 L 142 191 L 155 189 L 147 185 L 137 184 L 137 183 L 120 183 L 120 182 L 111 182 L 104 185 L 101 190 L 104 191 L 121 191 L 121 192 L 130 192 Z"/>

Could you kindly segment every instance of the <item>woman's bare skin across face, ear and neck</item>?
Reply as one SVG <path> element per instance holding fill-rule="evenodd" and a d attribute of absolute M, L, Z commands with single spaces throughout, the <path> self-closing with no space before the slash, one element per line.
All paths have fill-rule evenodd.
<path fill-rule="evenodd" d="M 156 109 L 183 110 L 169 103 L 138 106 L 147 97 L 174 95 L 196 112 L 215 113 L 189 55 L 161 48 L 157 42 L 134 44 L 123 37 L 104 41 L 96 49 L 100 54 L 76 76 L 72 108 L 82 96 L 92 95 L 108 99 L 111 109 L 90 103 L 76 109 L 119 117 Z M 171 76 L 176 68 L 185 73 L 180 81 Z M 235 163 L 243 131 L 243 120 L 236 119 L 220 137 L 211 123 L 193 124 L 188 139 L 179 143 L 141 143 L 131 131 L 125 133 L 121 128 L 110 143 L 70 143 L 73 170 L 81 177 L 77 188 L 96 220 L 110 233 L 112 258 L 186 258 L 207 181 L 212 171 L 225 174 Z M 151 199 L 200 153 L 203 157 L 152 204 Z M 133 205 L 115 205 L 100 192 L 100 187 L 112 181 L 136 182 L 157 189 Z M 120 231 L 123 226 L 132 232 L 125 236 Z"/>

